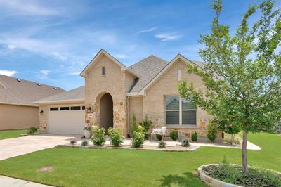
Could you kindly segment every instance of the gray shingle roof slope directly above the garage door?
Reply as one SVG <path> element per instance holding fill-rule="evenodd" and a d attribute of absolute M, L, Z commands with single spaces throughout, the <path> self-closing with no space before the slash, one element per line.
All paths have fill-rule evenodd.
<path fill-rule="evenodd" d="M 43 98 L 38 102 L 44 101 L 64 101 L 64 100 L 74 100 L 74 99 L 84 99 L 85 98 L 85 86 L 72 89 L 70 91 L 65 91 L 63 93 L 58 93 L 54 96 Z"/>

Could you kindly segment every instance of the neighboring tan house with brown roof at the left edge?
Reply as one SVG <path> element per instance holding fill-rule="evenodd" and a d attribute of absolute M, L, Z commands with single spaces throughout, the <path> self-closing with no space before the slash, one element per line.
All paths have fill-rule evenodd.
<path fill-rule="evenodd" d="M 32 102 L 63 89 L 0 75 L 0 130 L 39 127 L 39 105 Z"/>

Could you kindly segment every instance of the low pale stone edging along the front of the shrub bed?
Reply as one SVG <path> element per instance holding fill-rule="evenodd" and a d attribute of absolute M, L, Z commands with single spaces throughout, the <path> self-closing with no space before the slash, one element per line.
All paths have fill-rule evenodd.
<path fill-rule="evenodd" d="M 88 148 L 88 149 L 130 149 L 130 150 L 159 150 L 166 152 L 192 152 L 200 148 L 197 146 L 189 150 L 165 150 L 159 148 L 131 148 L 131 147 L 112 147 L 112 146 L 72 146 L 72 145 L 57 145 L 55 148 Z"/>

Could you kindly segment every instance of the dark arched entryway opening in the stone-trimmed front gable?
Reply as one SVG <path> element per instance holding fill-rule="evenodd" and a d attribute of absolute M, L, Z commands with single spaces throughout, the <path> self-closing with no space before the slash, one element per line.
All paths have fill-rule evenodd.
<path fill-rule="evenodd" d="M 113 127 L 113 101 L 110 93 L 100 98 L 100 127 L 105 128 L 106 133 L 108 128 Z"/>

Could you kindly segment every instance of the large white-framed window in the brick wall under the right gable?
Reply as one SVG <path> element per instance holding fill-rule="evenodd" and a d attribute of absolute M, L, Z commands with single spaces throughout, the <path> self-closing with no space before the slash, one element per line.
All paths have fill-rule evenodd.
<path fill-rule="evenodd" d="M 196 125 L 196 107 L 179 96 L 166 96 L 166 125 Z"/>

